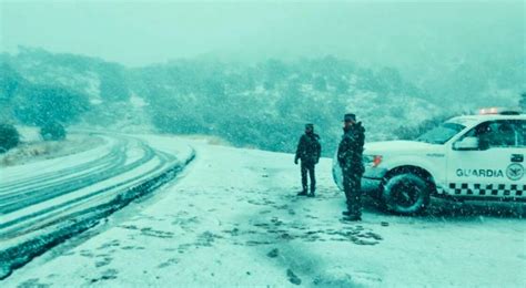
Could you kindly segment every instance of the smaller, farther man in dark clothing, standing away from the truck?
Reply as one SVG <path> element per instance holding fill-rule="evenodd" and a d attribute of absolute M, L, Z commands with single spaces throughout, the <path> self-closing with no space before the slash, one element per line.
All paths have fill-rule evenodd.
<path fill-rule="evenodd" d="M 314 125 L 305 125 L 305 134 L 300 137 L 300 143 L 297 143 L 296 156 L 294 158 L 294 164 L 297 164 L 297 161 L 302 161 L 302 187 L 303 191 L 299 193 L 300 196 L 314 197 L 314 192 L 316 191 L 316 176 L 314 174 L 314 166 L 320 161 L 320 155 L 322 152 L 322 145 L 320 145 L 320 136 L 314 133 Z M 311 177 L 311 193 L 307 194 L 307 173 Z"/>

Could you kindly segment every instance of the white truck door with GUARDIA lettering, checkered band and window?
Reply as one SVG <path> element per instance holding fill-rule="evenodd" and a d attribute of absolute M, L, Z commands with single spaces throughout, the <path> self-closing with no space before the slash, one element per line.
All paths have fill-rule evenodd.
<path fill-rule="evenodd" d="M 525 121 L 499 120 L 484 122 L 467 132 L 478 145 L 456 148 L 448 154 L 447 185 L 454 196 L 524 197 L 526 178 Z"/>

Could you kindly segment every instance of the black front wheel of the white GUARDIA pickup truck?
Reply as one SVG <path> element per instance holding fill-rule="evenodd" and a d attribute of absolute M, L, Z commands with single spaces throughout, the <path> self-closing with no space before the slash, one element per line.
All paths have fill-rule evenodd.
<path fill-rule="evenodd" d="M 414 215 L 425 210 L 429 204 L 428 183 L 412 173 L 396 175 L 384 185 L 383 200 L 388 212 Z"/>

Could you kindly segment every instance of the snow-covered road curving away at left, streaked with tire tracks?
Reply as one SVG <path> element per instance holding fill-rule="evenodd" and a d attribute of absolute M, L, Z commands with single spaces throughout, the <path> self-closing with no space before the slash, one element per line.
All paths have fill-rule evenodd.
<path fill-rule="evenodd" d="M 189 147 L 155 147 L 151 137 L 98 134 L 104 145 L 54 160 L 2 169 L 0 182 L 0 253 L 6 258 L 64 237 L 75 222 L 92 219 L 133 199 L 138 187 L 182 168 Z M 179 148 L 179 150 L 178 150 Z M 158 184 L 148 184 L 150 186 Z M 114 205 L 113 205 L 114 204 Z M 97 217 L 95 217 L 97 218 Z M 61 232 L 62 230 L 62 232 Z M 59 232 L 59 233 L 58 233 Z M 59 234 L 59 235 L 57 235 Z M 37 241 L 36 241 L 37 240 Z M 43 243 L 42 243 L 43 241 Z M 12 260 L 12 259 L 9 259 Z"/>

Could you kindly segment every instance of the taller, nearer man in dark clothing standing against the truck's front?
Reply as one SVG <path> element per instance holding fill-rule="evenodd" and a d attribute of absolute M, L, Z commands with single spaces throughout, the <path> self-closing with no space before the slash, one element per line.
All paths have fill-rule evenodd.
<path fill-rule="evenodd" d="M 343 187 L 347 198 L 346 220 L 362 219 L 361 184 L 364 173 L 362 154 L 364 151 L 365 128 L 356 123 L 356 115 L 345 114 L 343 136 L 337 150 L 337 161 L 343 174 Z"/>

